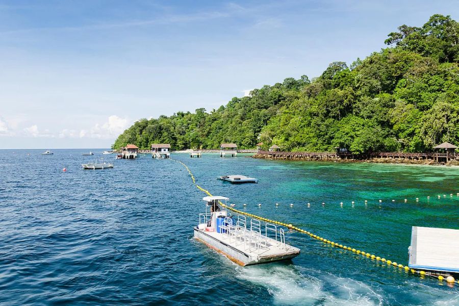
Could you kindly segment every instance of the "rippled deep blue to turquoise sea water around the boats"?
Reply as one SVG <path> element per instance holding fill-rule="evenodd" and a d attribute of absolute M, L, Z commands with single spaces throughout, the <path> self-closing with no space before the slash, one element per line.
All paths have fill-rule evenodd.
<path fill-rule="evenodd" d="M 85 151 L 0 151 L 0 303 L 459 304 L 457 284 L 422 279 L 296 232 L 286 235 L 301 248 L 293 261 L 236 266 L 192 238 L 204 194 L 182 165 L 147 155 L 85 171 Z M 172 157 L 237 209 L 404 265 L 411 226 L 459 228 L 455 167 Z M 223 174 L 260 183 L 216 180 Z"/>

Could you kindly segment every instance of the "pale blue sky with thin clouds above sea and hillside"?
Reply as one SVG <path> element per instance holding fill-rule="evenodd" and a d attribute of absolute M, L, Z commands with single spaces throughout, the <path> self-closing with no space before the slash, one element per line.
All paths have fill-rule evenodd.
<path fill-rule="evenodd" d="M 0 148 L 103 148 L 139 118 L 317 77 L 457 1 L 1 1 Z"/>

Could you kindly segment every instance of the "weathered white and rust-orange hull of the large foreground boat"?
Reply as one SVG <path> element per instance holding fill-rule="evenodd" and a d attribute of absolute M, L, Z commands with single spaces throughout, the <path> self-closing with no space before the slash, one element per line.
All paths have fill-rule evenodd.
<path fill-rule="evenodd" d="M 197 227 L 194 228 L 194 238 L 223 254 L 225 257 L 240 266 L 259 265 L 276 261 L 290 260 L 298 256 L 300 253 L 299 249 L 296 249 L 295 251 L 281 252 L 276 255 L 253 256 L 253 254 L 250 254 L 249 252 L 240 250 L 222 240 L 212 237 L 212 235 L 204 231 L 198 230 Z"/>

